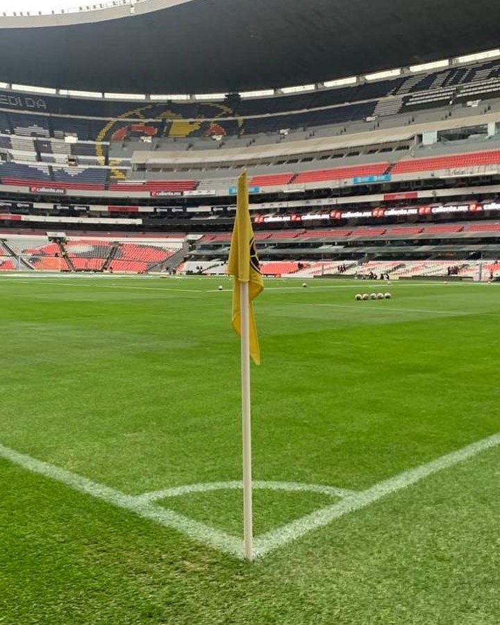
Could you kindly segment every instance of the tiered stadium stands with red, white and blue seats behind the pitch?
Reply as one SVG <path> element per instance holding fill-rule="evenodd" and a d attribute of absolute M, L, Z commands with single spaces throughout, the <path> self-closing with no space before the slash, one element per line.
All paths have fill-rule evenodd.
<path fill-rule="evenodd" d="M 374 269 L 394 276 L 401 263 L 409 277 L 419 272 L 433 276 L 442 267 L 426 263 L 437 262 L 437 249 L 444 245 L 450 258 L 467 260 L 472 253 L 496 266 L 494 246 L 500 224 L 492 219 L 497 209 L 486 214 L 479 206 L 484 216 L 469 215 L 466 204 L 476 201 L 472 189 L 483 183 L 492 187 L 487 195 L 490 205 L 497 202 L 498 125 L 490 122 L 491 116 L 485 124 L 478 119 L 481 122 L 481 116 L 487 115 L 490 103 L 497 115 L 500 103 L 492 98 L 479 110 L 460 99 L 466 93 L 479 98 L 497 94 L 500 99 L 500 61 L 287 96 L 233 97 L 224 103 L 138 106 L 47 96 L 41 113 L 0 106 L 0 182 L 30 187 L 5 190 L 9 200 L 19 197 L 24 203 L 6 203 L 2 222 L 10 228 L 47 226 L 47 231 L 50 220 L 50 228 L 61 224 L 69 237 L 56 247 L 46 239 L 26 244 L 13 252 L 22 263 L 19 258 L 12 260 L 8 250 L 0 253 L 21 270 L 156 271 L 165 268 L 174 248 L 124 242 L 119 232 L 115 239 L 100 242 L 97 232 L 109 229 L 113 221 L 118 230 L 136 228 L 137 235 L 162 233 L 167 224 L 185 228 L 190 220 L 187 230 L 199 240 L 194 244 L 185 239 L 194 257 L 179 256 L 178 271 L 197 272 L 202 267 L 202 272 L 221 273 L 231 238 L 225 228 L 233 215 L 231 195 L 240 160 L 255 153 L 248 165 L 249 183 L 256 194 L 253 214 L 258 210 L 267 219 L 256 221 L 256 240 L 268 275 L 320 276 L 325 269 L 355 275 L 363 259 L 374 258 L 369 262 L 385 263 Z M 464 133 L 460 122 L 468 116 L 473 122 Z M 442 140 L 437 131 L 436 142 L 425 144 L 422 128 L 450 118 L 457 123 L 443 131 Z M 412 130 L 412 124 L 419 124 L 418 131 Z M 377 132 L 383 139 L 370 143 Z M 389 141 L 391 133 L 397 138 Z M 272 156 L 267 157 L 267 151 Z M 147 158 L 141 160 L 138 153 Z M 471 187 L 458 197 L 452 192 L 457 185 L 453 177 L 460 176 L 467 178 L 460 184 L 465 187 L 471 181 Z M 476 181 L 474 176 L 484 179 Z M 47 206 L 27 203 L 22 194 L 28 192 L 36 194 L 37 200 L 46 194 Z M 453 211 L 448 215 L 434 193 L 436 198 L 446 198 L 444 203 L 466 204 L 453 208 L 458 215 Z M 50 200 L 54 194 L 58 203 Z M 74 206 L 71 197 L 76 198 Z M 477 201 L 483 199 L 478 192 Z M 394 211 L 388 210 L 393 207 Z M 408 207 L 413 216 L 399 217 L 397 210 Z M 81 237 L 72 236 L 85 217 L 92 229 Z M 478 220 L 467 222 L 466 217 Z M 426 258 L 414 267 L 408 257 L 418 245 L 425 246 L 421 256 Z M 397 246 L 400 259 L 392 253 Z M 319 258 L 324 258 L 321 265 Z M 337 269 L 339 263 L 346 271 Z M 371 271 L 370 267 L 362 270 Z M 467 267 L 476 279 L 476 265 Z M 458 275 L 470 277 L 461 270 Z"/>

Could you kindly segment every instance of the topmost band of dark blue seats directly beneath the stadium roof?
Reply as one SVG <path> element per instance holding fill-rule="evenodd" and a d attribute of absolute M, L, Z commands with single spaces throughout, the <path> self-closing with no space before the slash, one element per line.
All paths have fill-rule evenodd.
<path fill-rule="evenodd" d="M 277 133 L 283 129 L 344 124 L 384 117 L 408 107 L 442 106 L 449 101 L 482 99 L 500 92 L 500 61 L 487 60 L 367 81 L 342 88 L 220 102 L 136 102 L 40 96 L 47 114 L 0 110 L 0 132 L 26 137 L 126 142 L 131 138 L 210 138 Z M 3 107 L 26 94 L 0 90 Z M 149 118 L 148 118 L 149 116 Z M 91 156 L 91 155 L 88 155 Z"/>

